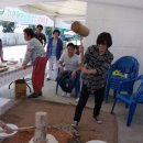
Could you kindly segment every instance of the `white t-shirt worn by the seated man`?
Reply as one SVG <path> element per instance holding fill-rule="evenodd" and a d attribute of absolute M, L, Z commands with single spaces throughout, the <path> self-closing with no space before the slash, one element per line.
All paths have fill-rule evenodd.
<path fill-rule="evenodd" d="M 59 62 L 63 62 L 65 70 L 72 70 L 72 72 L 75 70 L 81 63 L 78 55 L 75 54 L 73 57 L 69 57 L 67 53 L 63 53 Z"/>

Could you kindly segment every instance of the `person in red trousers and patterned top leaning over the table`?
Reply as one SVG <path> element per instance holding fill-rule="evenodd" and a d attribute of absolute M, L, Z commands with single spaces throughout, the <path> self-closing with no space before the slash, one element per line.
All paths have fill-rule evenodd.
<path fill-rule="evenodd" d="M 44 85 L 45 66 L 46 66 L 46 55 L 43 45 L 38 40 L 34 37 L 34 32 L 32 29 L 24 29 L 24 38 L 28 41 L 28 50 L 25 53 L 24 62 L 22 64 L 23 68 L 26 68 L 29 62 L 32 62 L 32 84 L 34 92 L 30 98 L 37 98 L 42 96 L 42 87 Z"/>

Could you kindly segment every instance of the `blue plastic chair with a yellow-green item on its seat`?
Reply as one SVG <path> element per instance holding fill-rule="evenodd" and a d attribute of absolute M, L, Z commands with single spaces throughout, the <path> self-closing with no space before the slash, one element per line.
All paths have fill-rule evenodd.
<path fill-rule="evenodd" d="M 114 70 L 120 70 L 123 75 L 128 77 L 113 76 Z M 113 89 L 114 92 L 118 89 L 120 81 L 125 81 L 128 79 L 134 79 L 139 75 L 139 62 L 132 56 L 123 56 L 119 58 L 114 64 L 112 64 L 108 70 L 107 86 L 106 86 L 106 102 L 108 102 L 109 91 Z M 122 88 L 123 91 L 129 94 L 133 92 L 133 85 L 125 85 Z"/>

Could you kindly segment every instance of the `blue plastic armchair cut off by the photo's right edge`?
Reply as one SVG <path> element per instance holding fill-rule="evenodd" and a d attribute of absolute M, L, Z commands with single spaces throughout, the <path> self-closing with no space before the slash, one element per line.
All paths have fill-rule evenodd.
<path fill-rule="evenodd" d="M 129 94 L 121 92 L 123 86 L 131 85 L 131 84 L 134 85 L 134 82 L 136 82 L 136 81 L 140 82 L 140 86 L 134 94 L 129 95 Z M 127 127 L 130 127 L 138 103 L 143 103 L 143 75 L 135 78 L 135 79 L 129 79 L 127 81 L 120 82 L 120 86 L 117 90 L 117 97 L 114 98 L 114 102 L 113 102 L 113 106 L 112 106 L 112 109 L 111 109 L 111 113 L 113 113 L 113 110 L 114 110 L 114 107 L 116 107 L 116 103 L 117 103 L 118 100 L 125 103 L 125 106 L 129 107 Z"/>

